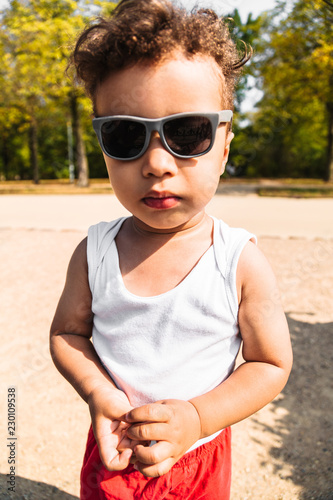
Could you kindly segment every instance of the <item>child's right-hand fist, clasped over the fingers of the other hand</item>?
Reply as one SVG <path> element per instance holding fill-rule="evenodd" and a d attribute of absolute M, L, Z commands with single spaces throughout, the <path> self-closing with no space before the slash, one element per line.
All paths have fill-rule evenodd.
<path fill-rule="evenodd" d="M 167 399 L 141 406 L 126 415 L 130 439 L 157 441 L 134 448 L 135 468 L 149 477 L 166 474 L 201 437 L 200 417 L 188 401 Z"/>

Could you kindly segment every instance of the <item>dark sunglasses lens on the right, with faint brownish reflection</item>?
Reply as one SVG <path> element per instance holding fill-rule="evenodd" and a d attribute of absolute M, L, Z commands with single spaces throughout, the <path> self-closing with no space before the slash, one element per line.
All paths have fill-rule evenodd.
<path fill-rule="evenodd" d="M 204 116 L 175 118 L 164 124 L 163 131 L 170 149 L 182 156 L 205 153 L 212 143 L 212 124 Z"/>

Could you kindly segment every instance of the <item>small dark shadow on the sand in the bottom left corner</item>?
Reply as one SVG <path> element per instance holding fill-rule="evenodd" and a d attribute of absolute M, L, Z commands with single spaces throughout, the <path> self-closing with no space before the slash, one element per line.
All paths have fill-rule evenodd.
<path fill-rule="evenodd" d="M 8 477 L 0 474 L 1 500 L 79 500 L 65 491 L 40 481 L 31 481 L 24 477 L 16 476 L 15 492 L 9 492 Z"/>

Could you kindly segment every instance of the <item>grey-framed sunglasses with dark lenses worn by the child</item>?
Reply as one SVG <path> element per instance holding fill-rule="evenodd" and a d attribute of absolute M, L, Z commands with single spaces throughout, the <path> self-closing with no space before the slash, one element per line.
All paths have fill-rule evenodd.
<path fill-rule="evenodd" d="M 178 113 L 156 120 L 137 116 L 93 119 L 102 151 L 115 160 L 136 160 L 146 151 L 151 133 L 159 133 L 163 146 L 177 158 L 196 158 L 210 151 L 217 127 L 232 121 L 232 111 Z"/>

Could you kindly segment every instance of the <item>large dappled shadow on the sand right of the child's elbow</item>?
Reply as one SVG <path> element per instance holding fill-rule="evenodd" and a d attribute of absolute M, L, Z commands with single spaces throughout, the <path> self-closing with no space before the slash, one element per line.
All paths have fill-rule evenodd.
<path fill-rule="evenodd" d="M 274 429 L 257 424 L 264 436 L 269 432 L 279 437 L 281 446 L 270 454 L 274 463 L 291 466 L 285 479 L 301 486 L 299 498 L 332 500 L 333 323 L 311 324 L 287 316 L 294 365 L 284 397 L 273 403 L 273 411 L 282 416 Z M 282 467 L 275 469 L 281 474 Z"/>

